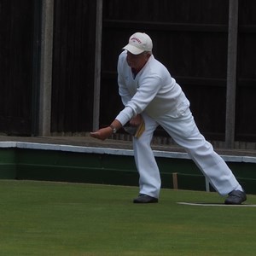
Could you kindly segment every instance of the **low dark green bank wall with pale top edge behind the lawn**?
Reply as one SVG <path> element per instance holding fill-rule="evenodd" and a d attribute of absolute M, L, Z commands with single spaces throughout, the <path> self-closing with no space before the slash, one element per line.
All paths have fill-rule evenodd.
<path fill-rule="evenodd" d="M 212 190 L 201 172 L 180 152 L 154 150 L 162 187 Z M 248 194 L 256 194 L 256 157 L 222 155 Z M 47 143 L 0 143 L 0 178 L 137 186 L 131 149 Z"/>

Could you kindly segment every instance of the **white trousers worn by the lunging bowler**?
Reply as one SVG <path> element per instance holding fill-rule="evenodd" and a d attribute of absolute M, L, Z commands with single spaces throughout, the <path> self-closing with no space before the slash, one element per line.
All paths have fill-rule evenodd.
<path fill-rule="evenodd" d="M 165 114 L 159 119 L 152 119 L 146 113 L 142 115 L 145 131 L 138 139 L 133 138 L 134 158 L 140 176 L 140 194 L 156 198 L 160 194 L 160 172 L 150 146 L 154 130 L 158 125 L 161 125 L 172 139 L 186 150 L 220 195 L 227 195 L 234 189 L 241 190 L 241 185 L 230 168 L 214 152 L 212 144 L 201 135 L 189 108 L 178 118 L 173 118 L 170 114 Z"/>

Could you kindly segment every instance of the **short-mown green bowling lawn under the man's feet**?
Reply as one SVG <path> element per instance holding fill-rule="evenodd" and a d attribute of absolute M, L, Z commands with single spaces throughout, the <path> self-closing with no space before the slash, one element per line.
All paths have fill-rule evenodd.
<path fill-rule="evenodd" d="M 256 207 L 216 193 L 162 189 L 137 205 L 137 188 L 0 181 L 0 255 L 255 255 Z M 256 204 L 248 195 L 247 204 Z"/>

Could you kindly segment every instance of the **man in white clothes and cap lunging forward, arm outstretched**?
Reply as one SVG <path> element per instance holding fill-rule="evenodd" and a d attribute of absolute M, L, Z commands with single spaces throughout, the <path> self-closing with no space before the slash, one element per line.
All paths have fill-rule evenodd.
<path fill-rule="evenodd" d="M 145 124 L 141 137 L 133 137 L 134 157 L 139 172 L 140 193 L 134 203 L 158 202 L 160 172 L 150 143 L 161 125 L 189 154 L 225 204 L 241 204 L 247 196 L 224 160 L 198 131 L 189 110 L 189 101 L 166 67 L 154 59 L 153 44 L 146 33 L 129 39 L 118 61 L 119 95 L 125 108 L 106 128 L 91 132 L 91 137 L 106 139 L 127 122 Z"/>

